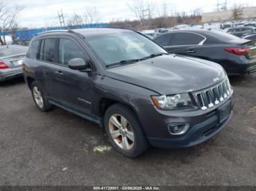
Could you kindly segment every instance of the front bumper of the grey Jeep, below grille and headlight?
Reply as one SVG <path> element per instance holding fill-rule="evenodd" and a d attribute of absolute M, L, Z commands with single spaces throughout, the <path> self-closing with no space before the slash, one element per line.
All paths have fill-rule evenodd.
<path fill-rule="evenodd" d="M 219 122 L 219 109 L 227 103 L 231 104 L 231 112 L 225 120 Z M 198 109 L 187 112 L 170 112 L 154 109 L 155 112 L 152 114 L 153 110 L 150 110 L 148 107 L 144 112 L 140 112 L 140 117 L 142 117 L 140 118 L 140 123 L 146 133 L 149 144 L 154 147 L 192 147 L 210 139 L 225 127 L 232 117 L 233 105 L 232 94 L 225 101 L 222 101 L 222 103 L 207 110 Z M 168 124 L 183 122 L 189 124 L 187 133 L 183 135 L 171 135 L 167 128 Z"/>

